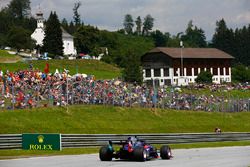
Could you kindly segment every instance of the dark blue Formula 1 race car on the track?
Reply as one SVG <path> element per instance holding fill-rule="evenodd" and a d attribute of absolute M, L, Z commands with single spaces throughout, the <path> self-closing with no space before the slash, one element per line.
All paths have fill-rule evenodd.
<path fill-rule="evenodd" d="M 111 161 L 112 158 L 134 161 L 147 161 L 161 157 L 162 159 L 172 158 L 171 149 L 169 146 L 162 146 L 160 156 L 157 149 L 146 143 L 144 140 L 139 140 L 137 137 L 129 137 L 126 141 L 115 143 L 122 145 L 118 151 L 113 148 L 113 142 L 102 146 L 99 150 L 99 158 L 101 161 Z"/>

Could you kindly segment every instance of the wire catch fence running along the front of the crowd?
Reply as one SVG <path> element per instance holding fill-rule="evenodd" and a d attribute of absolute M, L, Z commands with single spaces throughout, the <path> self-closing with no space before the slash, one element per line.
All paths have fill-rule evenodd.
<path fill-rule="evenodd" d="M 105 81 L 20 81 L 0 84 L 1 109 L 22 109 L 75 104 L 147 107 L 209 112 L 250 111 L 249 98 L 193 95 Z"/>

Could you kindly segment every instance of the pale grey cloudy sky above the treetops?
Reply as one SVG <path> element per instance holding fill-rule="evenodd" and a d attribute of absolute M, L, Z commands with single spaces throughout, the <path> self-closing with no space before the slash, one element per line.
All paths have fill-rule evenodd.
<path fill-rule="evenodd" d="M 0 7 L 10 0 L 0 0 Z M 35 15 L 40 6 L 45 19 L 56 11 L 60 20 L 73 20 L 74 3 L 81 2 L 79 13 L 85 24 L 99 29 L 116 31 L 123 28 L 126 14 L 135 20 L 150 14 L 154 30 L 176 35 L 185 32 L 190 20 L 205 31 L 207 40 L 215 32 L 216 21 L 224 18 L 229 28 L 242 28 L 250 24 L 250 0 L 30 0 Z"/>

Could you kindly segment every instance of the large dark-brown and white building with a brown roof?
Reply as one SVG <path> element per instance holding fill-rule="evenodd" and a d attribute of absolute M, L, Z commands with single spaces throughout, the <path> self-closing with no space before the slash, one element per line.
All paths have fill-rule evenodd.
<path fill-rule="evenodd" d="M 188 85 L 201 71 L 214 83 L 231 82 L 233 57 L 215 48 L 154 48 L 141 58 L 143 81 L 155 85 Z"/>

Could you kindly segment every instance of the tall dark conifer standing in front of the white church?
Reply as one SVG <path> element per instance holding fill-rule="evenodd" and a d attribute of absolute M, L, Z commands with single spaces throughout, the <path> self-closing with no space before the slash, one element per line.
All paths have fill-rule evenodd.
<path fill-rule="evenodd" d="M 52 57 L 63 55 L 62 29 L 56 12 L 51 12 L 46 22 L 43 51 Z"/>

